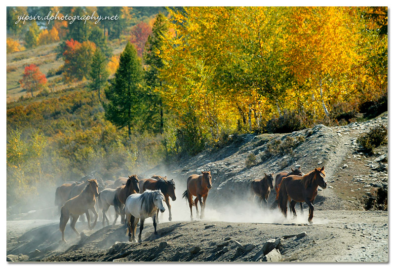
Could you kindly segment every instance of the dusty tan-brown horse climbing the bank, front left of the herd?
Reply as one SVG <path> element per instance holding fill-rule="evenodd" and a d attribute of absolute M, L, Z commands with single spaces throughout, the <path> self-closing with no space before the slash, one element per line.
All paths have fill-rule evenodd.
<path fill-rule="evenodd" d="M 97 222 L 97 212 L 95 209 L 96 199 L 95 196 L 99 195 L 98 192 L 98 184 L 96 179 L 89 179 L 88 184 L 85 186 L 85 189 L 79 193 L 76 197 L 68 200 L 60 210 L 60 222 L 59 229 L 62 232 L 62 241 L 66 242 L 64 237 L 64 231 L 69 218 L 72 217 L 71 228 L 73 231 L 79 235 L 79 232 L 76 230 L 76 222 L 78 217 L 85 213 L 86 218 L 88 220 L 89 229 L 93 229 Z M 90 217 L 89 217 L 89 209 L 93 211 L 95 214 L 95 221 L 93 226 L 90 226 Z"/>

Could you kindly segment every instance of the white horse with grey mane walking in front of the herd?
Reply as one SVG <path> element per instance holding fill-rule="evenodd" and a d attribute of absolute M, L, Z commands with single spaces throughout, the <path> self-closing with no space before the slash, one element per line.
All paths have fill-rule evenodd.
<path fill-rule="evenodd" d="M 154 221 L 155 235 L 157 232 L 157 209 L 160 212 L 164 212 L 165 208 L 163 205 L 164 195 L 160 191 L 150 191 L 147 190 L 143 193 L 130 194 L 126 198 L 125 202 L 125 214 L 126 223 L 129 231 L 129 242 L 136 242 L 135 231 L 137 222 L 140 219 L 140 233 L 139 242 L 141 242 L 141 232 L 144 228 L 144 220 L 147 218 L 152 218 Z M 130 221 L 130 222 L 129 222 Z M 133 234 L 133 237 L 132 237 Z"/>

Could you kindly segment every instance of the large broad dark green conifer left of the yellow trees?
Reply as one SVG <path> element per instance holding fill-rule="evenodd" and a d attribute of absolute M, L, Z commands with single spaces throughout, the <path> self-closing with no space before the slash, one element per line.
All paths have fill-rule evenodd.
<path fill-rule="evenodd" d="M 127 42 L 119 57 L 119 66 L 111 86 L 105 90 L 108 103 L 104 104 L 105 115 L 118 128 L 127 127 L 128 137 L 131 127 L 142 111 L 141 89 L 143 69 L 136 48 Z"/>

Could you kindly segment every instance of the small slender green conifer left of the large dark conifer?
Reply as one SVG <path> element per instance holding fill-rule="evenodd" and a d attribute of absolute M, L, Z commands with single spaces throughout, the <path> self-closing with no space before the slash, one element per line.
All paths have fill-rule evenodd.
<path fill-rule="evenodd" d="M 107 70 L 107 60 L 100 48 L 97 48 L 95 54 L 93 54 L 90 77 L 92 82 L 90 83 L 90 88 L 92 90 L 97 90 L 99 101 L 100 99 L 100 89 L 107 84 L 107 78 L 110 75 Z"/>

